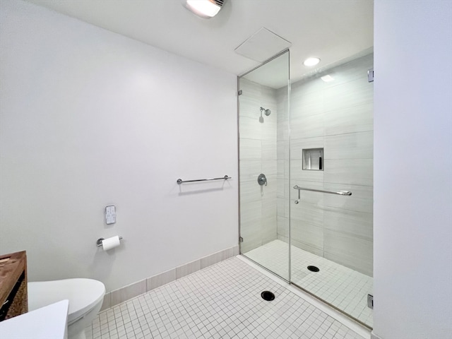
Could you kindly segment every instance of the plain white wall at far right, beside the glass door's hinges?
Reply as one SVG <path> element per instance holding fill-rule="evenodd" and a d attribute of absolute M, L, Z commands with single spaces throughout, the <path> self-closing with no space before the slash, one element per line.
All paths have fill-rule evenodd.
<path fill-rule="evenodd" d="M 374 333 L 452 338 L 452 1 L 375 1 Z"/>

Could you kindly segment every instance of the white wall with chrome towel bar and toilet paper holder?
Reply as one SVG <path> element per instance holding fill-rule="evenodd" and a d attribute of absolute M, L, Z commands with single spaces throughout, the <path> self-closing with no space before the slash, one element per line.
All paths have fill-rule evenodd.
<path fill-rule="evenodd" d="M 236 76 L 0 4 L 0 252 L 26 250 L 30 280 L 114 290 L 237 245 Z M 119 248 L 97 249 L 114 234 Z"/>

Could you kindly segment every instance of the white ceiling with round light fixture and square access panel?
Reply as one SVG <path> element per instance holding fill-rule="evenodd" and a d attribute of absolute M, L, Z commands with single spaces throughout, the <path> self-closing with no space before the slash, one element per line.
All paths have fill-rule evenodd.
<path fill-rule="evenodd" d="M 312 72 L 307 57 L 326 68 L 374 44 L 373 0 L 227 0 L 211 19 L 182 0 L 28 1 L 237 75 L 259 63 L 234 49 L 262 27 L 292 42 L 292 81 Z"/>

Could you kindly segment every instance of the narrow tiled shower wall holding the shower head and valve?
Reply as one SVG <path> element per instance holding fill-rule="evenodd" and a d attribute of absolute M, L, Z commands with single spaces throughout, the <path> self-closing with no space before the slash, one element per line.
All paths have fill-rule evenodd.
<path fill-rule="evenodd" d="M 277 239 L 277 119 L 276 90 L 240 79 L 240 225 L 244 238 L 242 252 Z M 271 110 L 266 116 L 260 107 Z M 261 117 L 262 115 L 262 117 Z M 259 186 L 259 174 L 267 186 Z"/>

